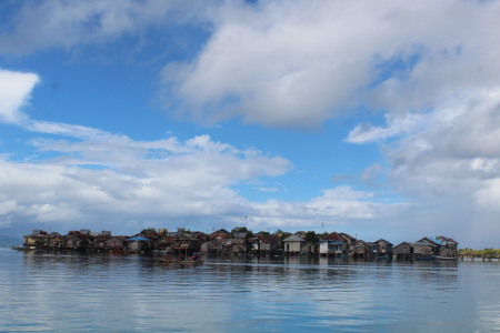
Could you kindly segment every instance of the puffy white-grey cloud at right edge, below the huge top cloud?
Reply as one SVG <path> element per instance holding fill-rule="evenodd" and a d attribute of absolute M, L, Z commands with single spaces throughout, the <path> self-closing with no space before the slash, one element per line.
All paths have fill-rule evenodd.
<path fill-rule="evenodd" d="M 470 190 L 463 186 L 499 178 L 499 90 L 436 109 L 421 131 L 387 147 L 391 176 L 406 189 L 434 193 Z"/>

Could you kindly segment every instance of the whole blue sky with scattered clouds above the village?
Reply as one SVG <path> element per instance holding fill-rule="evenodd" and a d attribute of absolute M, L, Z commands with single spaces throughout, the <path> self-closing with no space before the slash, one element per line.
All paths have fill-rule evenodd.
<path fill-rule="evenodd" d="M 500 1 L 7 0 L 0 234 L 500 248 Z"/>

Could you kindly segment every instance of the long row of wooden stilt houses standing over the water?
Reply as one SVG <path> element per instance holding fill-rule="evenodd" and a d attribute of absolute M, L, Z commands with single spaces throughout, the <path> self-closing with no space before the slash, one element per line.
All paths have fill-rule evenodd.
<path fill-rule="evenodd" d="M 16 250 L 81 251 L 192 255 L 308 255 L 337 256 L 366 260 L 428 260 L 457 259 L 458 243 L 446 236 L 424 236 L 413 242 L 392 244 L 379 239 L 373 242 L 358 240 L 347 233 L 299 231 L 289 233 L 253 233 L 247 228 L 231 231 L 220 229 L 212 233 L 178 229 L 144 229 L 134 235 L 113 235 L 110 231 L 58 232 L 33 230 L 23 236 L 23 244 Z"/>

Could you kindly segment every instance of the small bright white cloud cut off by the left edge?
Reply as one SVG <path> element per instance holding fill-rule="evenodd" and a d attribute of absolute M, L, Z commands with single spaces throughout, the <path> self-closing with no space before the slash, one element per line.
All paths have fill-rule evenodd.
<path fill-rule="evenodd" d="M 0 122 L 19 123 L 24 120 L 20 111 L 39 82 L 34 73 L 20 73 L 0 69 Z"/>

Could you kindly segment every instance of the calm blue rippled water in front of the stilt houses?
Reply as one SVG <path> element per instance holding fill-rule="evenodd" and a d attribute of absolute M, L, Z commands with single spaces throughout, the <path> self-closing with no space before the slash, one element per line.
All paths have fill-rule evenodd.
<path fill-rule="evenodd" d="M 0 331 L 500 331 L 500 263 L 0 250 Z"/>

